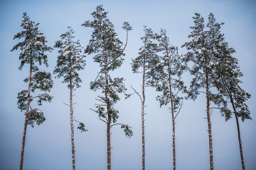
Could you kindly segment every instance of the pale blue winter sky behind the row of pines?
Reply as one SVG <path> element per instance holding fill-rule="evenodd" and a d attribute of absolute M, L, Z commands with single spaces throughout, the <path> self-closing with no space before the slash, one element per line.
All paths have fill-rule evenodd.
<path fill-rule="evenodd" d="M 247 104 L 252 121 L 240 122 L 245 167 L 256 169 L 256 1 L 255 0 L 1 0 L 0 1 L 0 169 L 16 170 L 20 163 L 20 150 L 24 127 L 24 113 L 17 108 L 17 94 L 27 89 L 22 80 L 29 75 L 28 67 L 18 70 L 20 51 L 10 52 L 18 43 L 13 36 L 21 31 L 22 13 L 27 12 L 32 21 L 39 24 L 48 46 L 53 46 L 62 33 L 71 26 L 76 39 L 85 47 L 92 29 L 81 26 L 86 20 L 92 20 L 90 13 L 103 4 L 108 18 L 114 24 L 121 41 L 125 41 L 122 23 L 132 26 L 129 32 L 126 57 L 118 70 L 111 72 L 112 77 L 126 79 L 128 93 L 130 85 L 141 92 L 141 75 L 133 74 L 131 58 L 137 57 L 142 42 L 143 26 L 146 25 L 159 33 L 165 28 L 171 43 L 179 47 L 179 53 L 186 53 L 180 46 L 189 39 L 187 36 L 193 26 L 194 13 L 200 13 L 205 21 L 213 13 L 217 22 L 225 22 L 221 32 L 230 47 L 236 50 L 240 70 L 244 76 L 241 85 L 252 97 Z M 53 72 L 58 56 L 57 50 L 48 54 L 49 68 L 42 70 Z M 106 124 L 98 119 L 94 108 L 94 99 L 100 92 L 89 89 L 90 81 L 97 76 L 99 67 L 87 56 L 85 70 L 79 72 L 83 83 L 74 94 L 77 102 L 74 115 L 85 123 L 88 132 L 75 130 L 76 169 L 103 170 L 107 166 Z M 192 76 L 185 73 L 183 81 L 189 86 Z M 40 107 L 46 121 L 34 129 L 28 126 L 25 146 L 24 170 L 70 170 L 72 169 L 69 108 L 62 102 L 68 102 L 69 93 L 61 79 L 54 79 L 51 103 Z M 155 100 L 155 89 L 146 89 L 146 169 L 169 170 L 172 168 L 171 114 L 167 107 L 159 107 Z M 141 169 L 141 113 L 138 96 L 128 100 L 120 95 L 116 104 L 119 109 L 117 122 L 132 126 L 134 135 L 126 138 L 119 127 L 112 128 L 112 170 Z M 35 105 L 35 104 L 34 104 Z M 176 118 L 176 167 L 177 170 L 209 169 L 209 140 L 207 132 L 205 96 L 198 100 L 187 100 Z M 237 138 L 236 121 L 225 119 L 218 111 L 211 115 L 213 136 L 213 159 L 215 170 L 240 170 L 240 153 Z"/>

